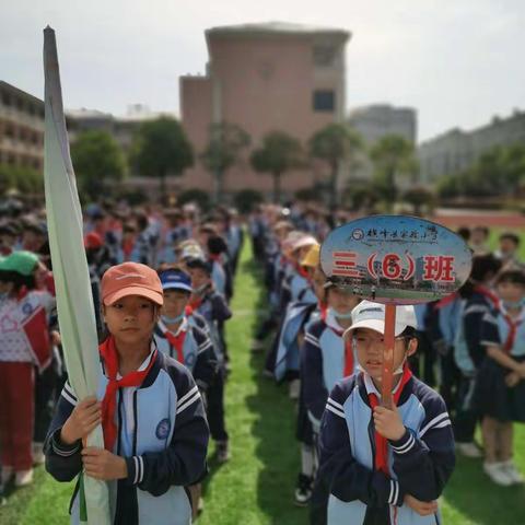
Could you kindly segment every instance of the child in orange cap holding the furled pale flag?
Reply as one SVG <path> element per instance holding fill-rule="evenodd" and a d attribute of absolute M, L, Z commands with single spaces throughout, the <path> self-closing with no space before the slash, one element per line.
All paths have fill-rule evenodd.
<path fill-rule="evenodd" d="M 66 384 L 46 468 L 58 481 L 79 475 L 108 481 L 114 524 L 188 525 L 185 487 L 206 471 L 209 431 L 191 374 L 153 341 L 163 305 L 160 279 L 144 265 L 126 262 L 107 270 L 101 288 L 108 337 L 100 346 L 98 392 L 78 399 Z M 84 446 L 101 423 L 105 447 Z M 80 487 L 70 508 L 74 524 L 85 521 Z"/>

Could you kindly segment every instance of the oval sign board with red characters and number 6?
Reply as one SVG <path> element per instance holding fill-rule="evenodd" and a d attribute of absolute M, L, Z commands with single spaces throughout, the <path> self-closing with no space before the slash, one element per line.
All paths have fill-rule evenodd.
<path fill-rule="evenodd" d="M 384 304 L 436 301 L 470 275 L 471 252 L 451 230 L 423 219 L 374 215 L 337 228 L 320 248 L 339 288 Z"/>

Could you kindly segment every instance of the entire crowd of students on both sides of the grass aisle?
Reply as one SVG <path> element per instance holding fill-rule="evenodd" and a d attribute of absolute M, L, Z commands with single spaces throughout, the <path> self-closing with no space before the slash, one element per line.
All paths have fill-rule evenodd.
<path fill-rule="evenodd" d="M 63 364 L 44 210 L 8 202 L 0 214 L 1 486 L 30 485 L 46 462 L 56 479 L 78 478 L 73 523 L 85 513 L 83 471 L 112 483 L 114 523 L 190 523 L 209 436 L 219 462 L 231 454 L 225 324 L 244 242 L 237 213 L 84 210 L 101 341 L 100 388 L 85 399 Z M 520 237 L 502 234 L 492 254 L 486 228 L 458 230 L 475 254 L 470 279 L 441 301 L 398 307 L 386 409 L 384 307 L 320 269 L 335 225 L 298 206 L 261 206 L 246 223 L 268 293 L 252 350 L 266 350 L 265 375 L 288 382 L 298 405 L 295 503 L 310 505 L 314 525 L 439 523 L 456 451 L 482 457 L 498 485 L 522 482 L 512 459 L 513 422 L 525 421 Z M 101 423 L 103 451 L 85 443 Z"/>

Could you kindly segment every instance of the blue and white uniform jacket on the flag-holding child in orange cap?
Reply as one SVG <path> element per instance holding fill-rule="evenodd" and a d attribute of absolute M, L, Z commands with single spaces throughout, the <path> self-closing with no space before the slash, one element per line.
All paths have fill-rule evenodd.
<path fill-rule="evenodd" d="M 114 454 L 125 457 L 128 477 L 108 481 L 114 525 L 189 525 L 191 502 L 186 487 L 206 472 L 208 423 L 197 385 L 175 360 L 152 352 L 139 368 L 155 359 L 139 387 L 117 390 Z M 107 377 L 101 363 L 97 398 Z M 82 443 L 66 445 L 60 431 L 78 404 L 69 384 L 62 389 L 45 444 L 46 469 L 58 481 L 71 481 L 82 471 Z M 79 485 L 70 506 L 71 523 L 80 524 Z"/>

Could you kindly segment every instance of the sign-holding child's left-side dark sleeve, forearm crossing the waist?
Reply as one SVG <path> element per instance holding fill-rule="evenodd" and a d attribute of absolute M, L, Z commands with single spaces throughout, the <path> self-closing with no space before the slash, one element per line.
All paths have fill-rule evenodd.
<path fill-rule="evenodd" d="M 352 378 L 338 383 L 328 399 L 320 424 L 319 477 L 330 493 L 341 501 L 360 500 L 368 506 L 400 506 L 404 492 L 399 483 L 382 471 L 361 465 L 353 457 L 343 402 Z M 369 424 L 369 421 L 355 422 Z"/>

